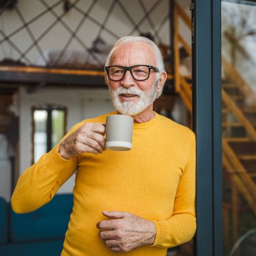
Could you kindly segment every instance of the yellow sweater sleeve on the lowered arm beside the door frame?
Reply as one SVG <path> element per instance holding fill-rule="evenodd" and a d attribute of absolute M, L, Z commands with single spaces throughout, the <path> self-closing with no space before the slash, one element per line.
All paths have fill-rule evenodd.
<path fill-rule="evenodd" d="M 168 220 L 154 221 L 154 224 L 156 239 L 153 246 L 157 247 L 174 247 L 186 243 L 195 234 L 195 136 L 177 188 L 174 212 Z"/>

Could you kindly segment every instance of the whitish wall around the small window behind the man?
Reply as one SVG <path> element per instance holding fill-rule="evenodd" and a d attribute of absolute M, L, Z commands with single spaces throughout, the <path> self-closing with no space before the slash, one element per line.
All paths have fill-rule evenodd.
<path fill-rule="evenodd" d="M 62 104 L 67 107 L 67 130 L 73 125 L 114 110 L 108 90 L 44 88 L 28 94 L 20 88 L 20 174 L 31 165 L 32 160 L 32 113 L 36 104 Z M 71 177 L 59 193 L 71 193 L 74 177 Z"/>

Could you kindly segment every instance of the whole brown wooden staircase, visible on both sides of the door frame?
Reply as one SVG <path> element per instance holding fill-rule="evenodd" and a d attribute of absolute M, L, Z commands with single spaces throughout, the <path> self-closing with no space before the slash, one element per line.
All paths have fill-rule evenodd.
<path fill-rule="evenodd" d="M 191 28 L 191 19 L 177 3 L 174 5 L 174 53 L 175 86 L 185 106 L 192 113 L 191 77 L 179 74 L 179 46 L 182 45 L 189 56 L 191 47 L 179 33 L 179 19 Z M 222 82 L 222 163 L 224 177 L 245 199 L 256 214 L 256 100 L 250 105 L 247 98 L 256 99 L 251 86 L 222 57 L 222 67 L 227 79 Z M 255 95 L 255 97 L 252 97 Z M 224 179 L 224 186 L 226 185 Z M 237 193 L 236 193 L 237 194 Z M 234 196 L 233 196 L 234 197 Z M 236 199 L 230 205 L 235 204 Z M 224 202 L 225 205 L 225 202 Z M 236 205 L 237 206 L 237 205 Z M 233 206 L 230 206 L 233 207 Z"/>

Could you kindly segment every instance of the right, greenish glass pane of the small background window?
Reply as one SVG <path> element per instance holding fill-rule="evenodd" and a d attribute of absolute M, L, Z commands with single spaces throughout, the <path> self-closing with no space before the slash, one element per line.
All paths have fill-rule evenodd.
<path fill-rule="evenodd" d="M 65 127 L 64 118 L 65 118 L 64 110 L 53 110 L 52 111 L 52 137 L 51 137 L 52 148 L 64 136 L 64 127 Z"/>

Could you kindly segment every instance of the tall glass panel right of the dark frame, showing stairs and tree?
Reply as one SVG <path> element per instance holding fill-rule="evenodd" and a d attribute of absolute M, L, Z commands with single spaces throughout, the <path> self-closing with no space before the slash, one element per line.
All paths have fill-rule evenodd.
<path fill-rule="evenodd" d="M 222 1 L 224 256 L 256 255 L 256 6 Z"/>

